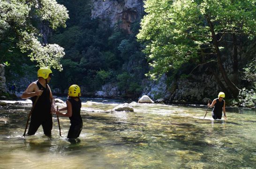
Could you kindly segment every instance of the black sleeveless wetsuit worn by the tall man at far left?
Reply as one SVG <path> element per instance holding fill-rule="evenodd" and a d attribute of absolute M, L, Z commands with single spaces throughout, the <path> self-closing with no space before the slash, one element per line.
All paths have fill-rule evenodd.
<path fill-rule="evenodd" d="M 31 113 L 30 127 L 28 135 L 33 135 L 37 132 L 40 125 L 42 125 L 44 134 L 50 136 L 52 134 L 53 128 L 53 118 L 51 114 L 51 99 L 50 99 L 50 89 L 45 88 L 39 82 L 37 82 L 38 88 L 43 90 L 41 96 L 39 96 L 38 101 Z M 48 85 L 47 85 L 48 86 Z M 36 101 L 37 96 L 32 97 L 33 105 Z"/>

